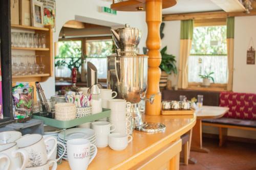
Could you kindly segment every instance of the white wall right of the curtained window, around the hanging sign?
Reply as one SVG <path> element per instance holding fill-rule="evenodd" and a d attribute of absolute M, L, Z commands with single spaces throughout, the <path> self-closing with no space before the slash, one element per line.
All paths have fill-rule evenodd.
<path fill-rule="evenodd" d="M 256 93 L 256 65 L 246 64 L 250 38 L 256 48 L 256 16 L 235 17 L 233 91 Z"/>

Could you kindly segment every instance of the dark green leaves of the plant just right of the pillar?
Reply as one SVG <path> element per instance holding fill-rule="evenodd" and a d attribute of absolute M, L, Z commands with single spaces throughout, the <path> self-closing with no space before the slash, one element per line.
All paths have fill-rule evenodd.
<path fill-rule="evenodd" d="M 160 51 L 162 56 L 162 61 L 160 64 L 160 69 L 165 71 L 167 74 L 177 74 L 177 67 L 176 67 L 176 57 L 171 54 L 166 53 L 167 46 L 163 47 Z"/>

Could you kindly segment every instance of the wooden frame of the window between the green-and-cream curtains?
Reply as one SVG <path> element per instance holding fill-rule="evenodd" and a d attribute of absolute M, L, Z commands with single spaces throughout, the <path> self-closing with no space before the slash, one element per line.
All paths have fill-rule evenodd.
<path fill-rule="evenodd" d="M 226 18 L 196 19 L 194 21 L 194 28 L 207 27 L 207 26 L 225 26 L 225 25 L 226 25 Z M 196 55 L 196 54 L 190 54 L 189 57 L 191 55 Z M 187 89 L 206 90 L 206 91 L 209 91 L 209 90 L 210 91 L 226 91 L 227 90 L 227 83 L 211 83 L 209 87 L 202 87 L 201 85 L 202 83 L 199 83 L 199 82 L 188 82 Z"/>

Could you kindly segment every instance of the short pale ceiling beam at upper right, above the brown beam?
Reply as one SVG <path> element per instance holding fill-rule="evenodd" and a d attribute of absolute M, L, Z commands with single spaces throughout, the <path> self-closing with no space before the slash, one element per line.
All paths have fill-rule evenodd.
<path fill-rule="evenodd" d="M 238 0 L 211 0 L 225 12 L 244 12 L 245 7 Z"/>

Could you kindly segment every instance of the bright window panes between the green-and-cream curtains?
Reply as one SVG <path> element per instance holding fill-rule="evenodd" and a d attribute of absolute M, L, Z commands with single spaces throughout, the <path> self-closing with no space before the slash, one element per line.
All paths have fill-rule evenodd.
<path fill-rule="evenodd" d="M 202 82 L 199 75 L 214 72 L 215 83 L 227 83 L 226 26 L 195 27 L 188 59 L 188 82 Z"/>

